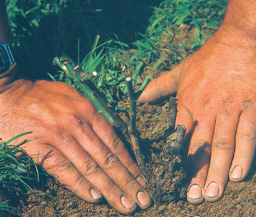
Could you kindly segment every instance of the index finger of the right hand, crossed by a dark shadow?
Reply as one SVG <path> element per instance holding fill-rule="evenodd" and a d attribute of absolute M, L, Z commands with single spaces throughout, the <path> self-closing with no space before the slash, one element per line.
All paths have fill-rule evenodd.
<path fill-rule="evenodd" d="M 210 145 L 213 138 L 215 118 L 201 113 L 195 116 L 189 144 L 188 163 L 191 181 L 188 187 L 187 200 L 192 204 L 204 202 L 202 189 L 205 187 L 209 162 Z"/>

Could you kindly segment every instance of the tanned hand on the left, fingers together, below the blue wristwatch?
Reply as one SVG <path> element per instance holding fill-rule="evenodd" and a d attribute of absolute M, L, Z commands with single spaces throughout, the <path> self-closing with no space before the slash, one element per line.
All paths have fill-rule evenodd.
<path fill-rule="evenodd" d="M 151 199 L 145 177 L 110 124 L 71 85 L 17 80 L 0 90 L 0 138 L 33 139 L 20 146 L 36 164 L 90 203 L 105 197 L 123 214 Z M 136 180 L 137 179 L 137 180 Z"/>

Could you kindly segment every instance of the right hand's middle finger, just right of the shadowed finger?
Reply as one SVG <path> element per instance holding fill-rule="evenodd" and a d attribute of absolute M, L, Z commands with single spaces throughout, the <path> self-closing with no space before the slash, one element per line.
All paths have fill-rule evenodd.
<path fill-rule="evenodd" d="M 223 196 L 234 156 L 238 119 L 239 113 L 234 109 L 223 110 L 217 115 L 211 146 L 210 167 L 203 192 L 206 201 L 216 202 Z"/>

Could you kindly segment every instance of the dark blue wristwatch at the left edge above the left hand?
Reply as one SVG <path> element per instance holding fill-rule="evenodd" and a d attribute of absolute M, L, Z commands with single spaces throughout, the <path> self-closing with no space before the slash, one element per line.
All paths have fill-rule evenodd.
<path fill-rule="evenodd" d="M 10 72 L 16 62 L 10 52 L 9 43 L 0 42 L 0 77 Z"/>

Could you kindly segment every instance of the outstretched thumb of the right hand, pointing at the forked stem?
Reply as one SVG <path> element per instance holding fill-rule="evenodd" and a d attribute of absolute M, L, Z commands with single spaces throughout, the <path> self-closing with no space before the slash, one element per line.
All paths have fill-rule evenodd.
<path fill-rule="evenodd" d="M 172 70 L 150 81 L 137 100 L 137 105 L 143 103 L 156 103 L 178 90 L 178 79 L 183 63 Z"/>

